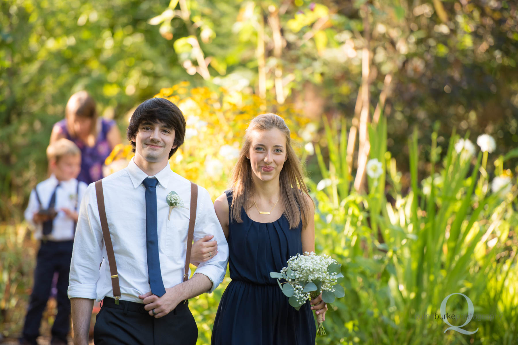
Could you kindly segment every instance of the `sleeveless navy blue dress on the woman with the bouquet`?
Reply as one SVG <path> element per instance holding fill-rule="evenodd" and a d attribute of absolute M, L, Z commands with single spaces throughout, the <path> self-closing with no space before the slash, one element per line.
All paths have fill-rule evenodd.
<path fill-rule="evenodd" d="M 232 192 L 225 193 L 230 206 Z M 244 209 L 241 219 L 242 223 L 229 219 L 232 281 L 221 297 L 211 345 L 314 345 L 316 327 L 309 301 L 295 310 L 277 279 L 270 277 L 291 256 L 302 253 L 302 225 L 290 229 L 284 214 L 275 222 L 255 222 Z"/>

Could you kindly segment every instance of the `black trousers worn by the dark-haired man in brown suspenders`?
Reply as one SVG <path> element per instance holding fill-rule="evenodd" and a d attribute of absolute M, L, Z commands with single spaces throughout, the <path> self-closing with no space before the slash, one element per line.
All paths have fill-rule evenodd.
<path fill-rule="evenodd" d="M 141 303 L 105 297 L 94 327 L 95 345 L 195 345 L 198 328 L 188 302 L 155 319 Z"/>

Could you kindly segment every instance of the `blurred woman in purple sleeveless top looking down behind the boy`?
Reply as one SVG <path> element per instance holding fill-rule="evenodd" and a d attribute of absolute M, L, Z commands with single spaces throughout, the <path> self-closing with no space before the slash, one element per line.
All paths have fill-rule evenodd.
<path fill-rule="evenodd" d="M 87 91 L 74 93 L 65 108 L 65 118 L 56 124 L 50 144 L 67 138 L 81 150 L 78 180 L 87 184 L 103 178 L 103 164 L 113 147 L 121 143 L 121 134 L 113 120 L 97 116 L 95 101 Z"/>

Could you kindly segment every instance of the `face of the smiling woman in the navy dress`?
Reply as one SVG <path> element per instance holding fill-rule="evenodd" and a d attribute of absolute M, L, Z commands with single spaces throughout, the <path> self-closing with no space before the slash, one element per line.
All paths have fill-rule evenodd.
<path fill-rule="evenodd" d="M 278 179 L 286 160 L 286 137 L 277 128 L 250 132 L 247 158 L 250 159 L 254 180 Z"/>

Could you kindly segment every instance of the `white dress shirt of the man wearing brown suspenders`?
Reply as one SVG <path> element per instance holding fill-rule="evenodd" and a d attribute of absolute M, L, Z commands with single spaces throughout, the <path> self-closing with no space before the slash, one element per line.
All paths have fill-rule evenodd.
<path fill-rule="evenodd" d="M 135 164 L 130 164 L 103 179 L 106 217 L 110 231 L 117 273 L 121 287 L 121 300 L 142 303 L 138 295 L 151 291 L 148 283 L 146 250 L 146 196 L 142 181 L 148 178 Z M 159 257 L 165 288 L 182 283 L 189 228 L 191 183 L 171 171 L 167 165 L 154 176 L 159 239 Z M 182 198 L 184 208 L 174 208 L 170 219 L 166 197 L 175 191 Z M 212 292 L 223 280 L 228 261 L 228 244 L 209 193 L 198 186 L 198 203 L 194 240 L 208 234 L 218 241 L 219 253 L 202 262 L 196 273 L 212 281 Z M 99 263 L 100 265 L 99 268 Z M 113 297 L 108 256 L 99 221 L 94 183 L 88 186 L 79 210 L 79 221 L 70 265 L 68 297 L 102 300 Z"/>

